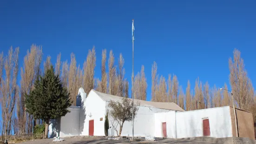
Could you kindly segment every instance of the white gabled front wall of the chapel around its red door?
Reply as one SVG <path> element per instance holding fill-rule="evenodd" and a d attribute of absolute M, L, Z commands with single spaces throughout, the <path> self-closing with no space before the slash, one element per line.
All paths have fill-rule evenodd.
<path fill-rule="evenodd" d="M 82 110 L 82 113 L 85 113 L 85 118 L 80 119 L 80 135 L 88 136 L 89 135 L 89 120 L 94 119 L 94 136 L 105 136 L 104 132 L 104 120 L 105 120 L 105 101 L 103 101 L 95 92 L 91 91 L 90 95 L 83 100 L 82 103 L 85 109 Z M 91 115 L 91 117 L 90 117 Z M 100 121 L 100 118 L 103 118 Z"/>

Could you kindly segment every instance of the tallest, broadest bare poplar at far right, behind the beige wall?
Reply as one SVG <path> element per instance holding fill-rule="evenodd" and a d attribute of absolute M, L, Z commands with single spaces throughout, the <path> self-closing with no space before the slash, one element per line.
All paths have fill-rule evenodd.
<path fill-rule="evenodd" d="M 230 85 L 234 99 L 240 109 L 249 110 L 252 102 L 253 87 L 244 68 L 241 53 L 237 49 L 233 52 L 233 59 L 229 59 Z"/>

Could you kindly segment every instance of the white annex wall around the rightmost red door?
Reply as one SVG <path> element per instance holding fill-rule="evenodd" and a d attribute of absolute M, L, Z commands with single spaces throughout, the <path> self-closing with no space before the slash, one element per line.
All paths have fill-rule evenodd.
<path fill-rule="evenodd" d="M 210 137 L 232 137 L 229 106 L 176 112 L 176 118 L 177 138 L 202 137 L 203 118 L 209 118 Z"/>

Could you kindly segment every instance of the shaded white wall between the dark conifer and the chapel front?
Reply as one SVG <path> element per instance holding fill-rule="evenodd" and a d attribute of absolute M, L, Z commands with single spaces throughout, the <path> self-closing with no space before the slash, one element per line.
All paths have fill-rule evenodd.
<path fill-rule="evenodd" d="M 71 106 L 68 108 L 71 112 L 60 120 L 59 137 L 69 137 L 79 135 L 79 113 L 80 107 Z"/>

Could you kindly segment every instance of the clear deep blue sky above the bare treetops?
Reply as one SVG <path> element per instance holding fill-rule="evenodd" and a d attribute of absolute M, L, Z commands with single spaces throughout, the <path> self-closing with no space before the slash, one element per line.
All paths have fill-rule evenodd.
<path fill-rule="evenodd" d="M 32 44 L 43 47 L 55 64 L 74 52 L 83 65 L 96 47 L 95 77 L 100 77 L 102 49 L 125 59 L 125 77 L 132 72 L 131 20 L 134 19 L 134 72 L 145 66 L 151 97 L 151 65 L 158 74 L 176 74 L 186 88 L 199 77 L 212 87 L 229 84 L 228 60 L 235 48 L 256 82 L 255 0 L 1 0 L 0 51 L 20 46 L 20 66 Z M 117 61 L 117 59 L 116 59 Z M 20 74 L 19 74 L 20 79 Z M 19 80 L 20 81 L 20 80 Z"/>

